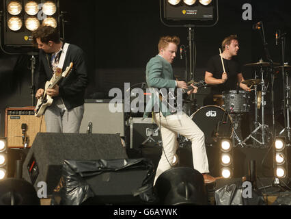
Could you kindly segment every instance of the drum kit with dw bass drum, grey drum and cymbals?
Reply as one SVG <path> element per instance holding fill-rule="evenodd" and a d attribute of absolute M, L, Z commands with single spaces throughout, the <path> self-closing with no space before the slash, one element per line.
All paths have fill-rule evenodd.
<path fill-rule="evenodd" d="M 260 71 L 260 78 L 255 71 L 255 79 L 247 79 L 242 82 L 251 88 L 249 92 L 230 90 L 223 92 L 223 94 L 214 95 L 215 105 L 201 107 L 191 115 L 191 119 L 204 132 L 205 142 L 208 146 L 214 145 L 218 138 L 232 138 L 234 145 L 241 147 L 245 147 L 250 138 L 253 140 L 253 144 L 268 146 L 273 138 L 268 125 L 265 123 L 266 93 L 269 86 L 269 82 L 266 80 L 268 70 L 266 68 L 271 67 L 271 64 L 260 60 L 260 62 L 245 64 L 245 66 L 255 67 Z M 273 63 L 273 66 L 275 66 L 275 70 L 281 68 L 278 63 Z M 286 65 L 285 68 L 291 70 L 289 65 Z M 249 113 L 251 110 L 250 98 L 253 91 L 255 99 L 253 101 L 255 104 L 254 129 L 247 138 L 240 140 L 236 133 L 238 124 L 243 114 Z M 261 110 L 260 116 L 259 110 Z"/>

